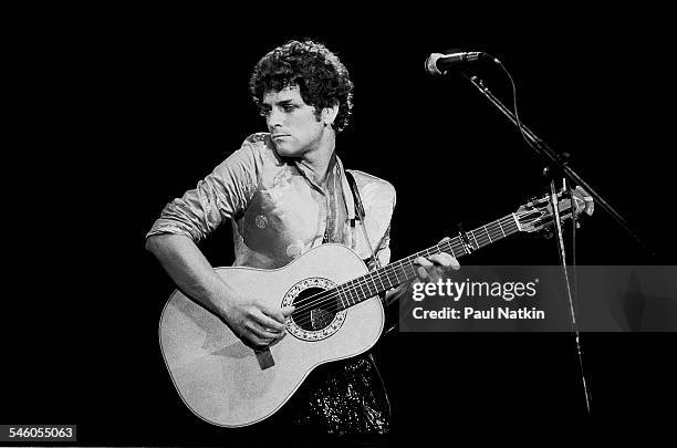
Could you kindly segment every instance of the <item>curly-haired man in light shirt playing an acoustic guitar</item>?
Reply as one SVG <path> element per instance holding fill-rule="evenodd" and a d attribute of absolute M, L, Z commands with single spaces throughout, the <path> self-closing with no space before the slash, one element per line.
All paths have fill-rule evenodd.
<path fill-rule="evenodd" d="M 215 273 L 196 242 L 221 223 L 232 223 L 235 265 L 281 268 L 324 242 L 352 248 L 369 269 L 389 261 L 395 189 L 352 171 L 366 212 L 363 231 L 354 226 L 353 194 L 335 153 L 352 88 L 345 66 L 322 44 L 291 41 L 268 53 L 250 81 L 268 133 L 248 137 L 196 189 L 168 204 L 147 235 L 147 249 L 177 285 L 249 346 L 264 348 L 282 338 L 293 308 L 241 298 Z M 458 269 L 446 253 L 417 264 L 420 278 L 431 281 Z M 407 288 L 389 291 L 388 300 Z M 316 368 L 284 408 L 296 424 L 329 434 L 388 431 L 387 397 L 368 354 Z"/>

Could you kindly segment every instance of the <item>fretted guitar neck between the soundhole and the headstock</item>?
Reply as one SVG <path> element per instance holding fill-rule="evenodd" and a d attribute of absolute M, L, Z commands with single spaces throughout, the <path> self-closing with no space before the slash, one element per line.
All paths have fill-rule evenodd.
<path fill-rule="evenodd" d="M 342 309 L 353 306 L 414 279 L 416 277 L 414 260 L 419 257 L 430 257 L 435 253 L 447 252 L 458 259 L 518 231 L 517 218 L 514 213 L 510 213 L 486 226 L 466 232 L 466 240 L 461 236 L 451 238 L 343 283 L 336 288 L 343 304 Z"/>

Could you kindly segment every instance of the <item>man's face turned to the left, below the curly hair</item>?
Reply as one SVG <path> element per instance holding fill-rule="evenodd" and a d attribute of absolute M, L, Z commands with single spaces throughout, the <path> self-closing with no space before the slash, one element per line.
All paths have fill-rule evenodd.
<path fill-rule="evenodd" d="M 261 108 L 278 154 L 301 157 L 319 147 L 324 123 L 315 117 L 315 107 L 305 104 L 298 86 L 265 93 Z"/>

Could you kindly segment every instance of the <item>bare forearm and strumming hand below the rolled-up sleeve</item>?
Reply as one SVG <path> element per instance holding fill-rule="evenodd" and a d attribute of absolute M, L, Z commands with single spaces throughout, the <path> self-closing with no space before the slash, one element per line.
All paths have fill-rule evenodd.
<path fill-rule="evenodd" d="M 221 317 L 247 345 L 263 348 L 284 336 L 284 321 L 293 306 L 271 310 L 256 299 L 240 296 L 221 279 L 192 240 L 183 235 L 155 235 L 146 249 L 178 288 Z"/>

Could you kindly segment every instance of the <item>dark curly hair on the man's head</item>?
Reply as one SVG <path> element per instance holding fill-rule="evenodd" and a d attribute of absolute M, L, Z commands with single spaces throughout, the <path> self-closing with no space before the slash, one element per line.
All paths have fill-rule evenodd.
<path fill-rule="evenodd" d="M 295 84 L 305 104 L 315 107 L 317 119 L 323 108 L 338 103 L 334 129 L 337 133 L 345 129 L 353 108 L 353 83 L 334 53 L 311 40 L 290 41 L 261 58 L 251 74 L 249 90 L 261 107 L 267 92 Z"/>

